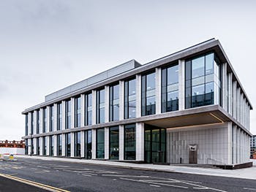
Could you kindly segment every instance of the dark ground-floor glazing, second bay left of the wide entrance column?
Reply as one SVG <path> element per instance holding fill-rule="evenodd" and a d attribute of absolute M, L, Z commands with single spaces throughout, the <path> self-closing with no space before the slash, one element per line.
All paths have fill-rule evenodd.
<path fill-rule="evenodd" d="M 119 159 L 119 127 L 114 126 L 109 129 L 109 158 L 112 160 Z"/>

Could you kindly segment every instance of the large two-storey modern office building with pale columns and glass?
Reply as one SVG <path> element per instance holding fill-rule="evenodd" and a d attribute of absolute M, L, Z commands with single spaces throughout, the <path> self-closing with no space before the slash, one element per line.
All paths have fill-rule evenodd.
<path fill-rule="evenodd" d="M 249 161 L 248 96 L 210 39 L 109 69 L 24 110 L 27 153 L 171 164 Z"/>

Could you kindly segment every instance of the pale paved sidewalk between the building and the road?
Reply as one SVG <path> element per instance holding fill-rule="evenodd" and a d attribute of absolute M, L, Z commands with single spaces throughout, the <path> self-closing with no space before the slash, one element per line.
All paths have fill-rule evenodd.
<path fill-rule="evenodd" d="M 42 156 L 29 156 L 29 155 L 15 155 L 17 158 L 34 158 L 42 159 L 46 161 L 66 161 L 76 162 L 84 164 L 95 164 L 105 166 L 117 166 L 130 169 L 144 169 L 151 171 L 162 171 L 162 172 L 180 172 L 189 174 L 206 174 L 211 176 L 219 177 L 236 177 L 249 180 L 256 180 L 256 160 L 253 161 L 253 166 L 245 169 L 225 170 L 225 169 L 211 169 L 202 167 L 190 167 L 190 166 L 175 166 L 175 165 L 155 165 L 155 164 L 131 164 L 118 161 L 99 161 L 99 160 L 87 160 L 87 159 L 75 159 L 75 158 L 53 158 L 53 157 L 42 157 Z"/>

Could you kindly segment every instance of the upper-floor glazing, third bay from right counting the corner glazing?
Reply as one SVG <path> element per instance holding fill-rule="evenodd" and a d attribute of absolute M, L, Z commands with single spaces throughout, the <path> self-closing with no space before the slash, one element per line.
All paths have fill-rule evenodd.
<path fill-rule="evenodd" d="M 156 113 L 156 80 L 155 72 L 141 76 L 141 115 Z"/>

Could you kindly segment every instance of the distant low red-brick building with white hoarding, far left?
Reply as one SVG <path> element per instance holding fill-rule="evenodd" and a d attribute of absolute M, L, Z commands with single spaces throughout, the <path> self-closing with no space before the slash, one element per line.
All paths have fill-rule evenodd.
<path fill-rule="evenodd" d="M 24 155 L 25 154 L 25 142 L 21 141 L 0 141 L 0 154 L 1 155 Z"/>

